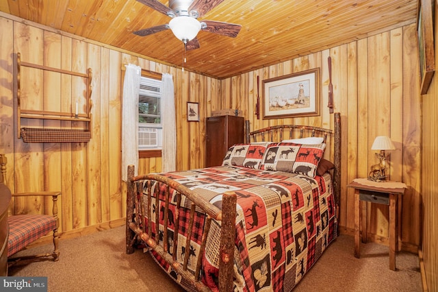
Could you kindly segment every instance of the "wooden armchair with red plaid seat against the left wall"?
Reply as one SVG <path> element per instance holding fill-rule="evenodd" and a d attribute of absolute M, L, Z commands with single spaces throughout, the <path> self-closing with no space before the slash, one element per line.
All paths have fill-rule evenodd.
<path fill-rule="evenodd" d="M 1 165 L 1 190 L 9 191 L 5 186 L 6 182 L 6 163 L 8 162 L 4 154 L 0 154 Z M 30 260 L 34 258 L 53 258 L 58 260 L 60 251 L 58 250 L 59 235 L 57 228 L 59 226 L 59 218 L 57 217 L 57 197 L 60 192 L 33 192 L 33 193 L 12 193 L 14 197 L 30 197 L 30 196 L 50 196 L 53 199 L 53 215 L 44 214 L 25 214 L 25 215 L 9 215 L 9 238 L 8 238 L 8 265 L 14 265 L 19 260 Z M 31 256 L 14 256 L 17 252 L 25 250 L 31 243 L 40 239 L 42 236 L 53 232 L 53 252 L 47 254 L 36 254 Z"/>

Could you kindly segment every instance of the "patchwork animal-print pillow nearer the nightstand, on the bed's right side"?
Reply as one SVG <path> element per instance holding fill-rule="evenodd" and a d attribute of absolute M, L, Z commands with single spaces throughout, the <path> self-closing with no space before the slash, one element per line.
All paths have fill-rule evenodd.
<path fill-rule="evenodd" d="M 325 143 L 309 145 L 278 143 L 269 145 L 260 169 L 300 173 L 315 178 L 316 169 L 324 154 Z"/>

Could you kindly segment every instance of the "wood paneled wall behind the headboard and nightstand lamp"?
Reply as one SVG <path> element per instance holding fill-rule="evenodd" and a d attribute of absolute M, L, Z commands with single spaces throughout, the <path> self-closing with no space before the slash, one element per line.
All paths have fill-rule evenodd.
<path fill-rule="evenodd" d="M 333 127 L 329 114 L 327 58 L 332 59 L 335 112 L 342 116 L 342 198 L 339 224 L 354 228 L 353 191 L 346 184 L 368 176 L 376 160 L 370 150 L 376 136 L 390 136 L 391 180 L 408 186 L 402 198 L 401 234 L 404 249 L 416 252 L 420 243 L 420 95 L 415 25 L 369 36 L 356 42 L 318 51 L 294 60 L 222 80 L 222 97 L 212 108 L 239 108 L 252 129 L 298 123 Z M 260 80 L 320 67 L 322 111 L 318 117 L 257 119 L 253 114 Z M 261 86 L 261 85 L 260 85 Z M 263 97 L 261 88 L 260 97 Z M 387 206 L 368 208 L 374 241 L 387 243 Z"/>

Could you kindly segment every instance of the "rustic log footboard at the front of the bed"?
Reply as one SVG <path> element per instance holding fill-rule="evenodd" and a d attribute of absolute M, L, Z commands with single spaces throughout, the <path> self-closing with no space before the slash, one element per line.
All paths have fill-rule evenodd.
<path fill-rule="evenodd" d="M 221 222 L 221 235 L 220 235 L 220 261 L 219 261 L 219 290 L 220 291 L 233 291 L 233 254 L 235 245 L 235 217 L 236 217 L 236 202 L 237 196 L 233 192 L 225 192 L 222 195 L 222 212 L 219 208 L 209 203 L 207 200 L 196 195 L 196 193 L 190 188 L 187 188 L 175 180 L 167 178 L 163 175 L 148 174 L 148 175 L 133 175 L 134 167 L 129 165 L 128 167 L 128 180 L 127 180 L 127 229 L 126 229 L 126 253 L 132 254 L 134 251 L 133 245 L 136 240 L 141 239 L 157 254 L 162 256 L 166 262 L 172 266 L 178 273 L 183 275 L 185 279 L 190 279 L 190 284 L 197 291 L 210 291 L 203 282 L 200 281 L 202 254 L 205 250 L 207 243 L 207 234 L 209 233 L 209 227 L 211 219 Z M 160 208 L 155 209 L 155 234 L 159 234 L 159 213 L 164 212 L 164 228 L 163 228 L 163 245 L 159 245 L 153 238 L 152 234 L 152 199 L 155 199 L 155 206 L 159 205 L 159 184 L 166 185 L 166 199 L 164 203 L 164 210 Z M 154 185 L 154 186 L 153 186 Z M 147 208 L 145 210 L 142 205 L 142 200 L 138 199 L 138 196 L 142 196 L 146 188 L 147 193 Z M 173 250 L 172 255 L 168 252 L 168 210 L 169 202 L 172 199 L 170 194 L 170 188 L 176 191 L 177 205 L 175 207 L 175 234 L 173 236 Z M 155 198 L 152 195 L 155 194 Z M 184 252 L 184 263 L 181 265 L 177 261 L 177 248 L 178 248 L 178 234 L 179 234 L 179 212 L 181 207 L 181 195 L 184 195 L 192 202 L 190 208 L 190 221 L 188 225 L 188 236 L 186 237 Z M 135 212 L 134 212 L 135 208 Z M 198 262 L 196 263 L 196 270 L 193 273 L 188 271 L 188 259 L 190 257 L 190 238 L 192 237 L 192 227 L 194 225 L 194 212 L 195 208 L 201 208 L 206 214 L 205 219 L 205 231 L 201 239 L 201 250 L 199 251 Z M 145 214 L 146 213 L 146 214 Z M 144 216 L 149 218 L 149 226 L 147 233 L 144 232 L 144 227 L 138 226 L 139 222 L 144 223 Z"/>

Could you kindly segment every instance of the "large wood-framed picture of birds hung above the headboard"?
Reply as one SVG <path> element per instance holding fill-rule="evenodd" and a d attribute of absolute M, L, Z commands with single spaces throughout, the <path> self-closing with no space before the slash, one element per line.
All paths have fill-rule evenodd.
<path fill-rule="evenodd" d="M 263 119 L 320 114 L 320 69 L 263 80 Z"/>

